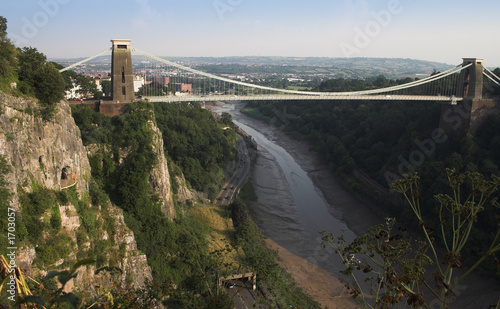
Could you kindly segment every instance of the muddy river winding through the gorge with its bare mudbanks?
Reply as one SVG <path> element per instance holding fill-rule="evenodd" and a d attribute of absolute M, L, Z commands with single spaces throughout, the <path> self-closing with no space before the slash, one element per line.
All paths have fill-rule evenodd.
<path fill-rule="evenodd" d="M 241 114 L 243 106 L 224 104 L 215 110 L 230 113 L 234 123 L 257 143 L 259 156 L 251 179 L 258 197 L 250 205 L 254 220 L 279 245 L 345 278 L 340 274 L 345 266 L 332 248 L 323 248 L 319 231 L 335 235 L 345 231 L 350 241 L 381 223 L 382 215 L 344 190 L 306 142 L 292 140 L 276 127 Z M 500 288 L 497 282 L 474 274 L 457 287 L 457 294 L 453 303 L 457 308 L 487 308 L 500 297 Z M 437 305 L 431 302 L 431 308 Z"/>

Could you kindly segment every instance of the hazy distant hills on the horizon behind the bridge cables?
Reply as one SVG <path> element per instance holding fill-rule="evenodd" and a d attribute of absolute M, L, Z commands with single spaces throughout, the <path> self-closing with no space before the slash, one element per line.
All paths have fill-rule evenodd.
<path fill-rule="evenodd" d="M 149 61 L 142 55 L 132 54 L 135 64 Z M 111 67 L 111 55 L 97 57 L 88 64 Z M 163 57 L 186 66 L 215 74 L 259 73 L 256 67 L 265 67 L 269 73 L 276 67 L 279 74 L 322 74 L 332 77 L 369 78 L 383 74 L 387 78 L 418 77 L 434 70 L 444 71 L 453 65 L 407 58 L 327 58 L 327 57 Z M 50 59 L 64 66 L 81 61 L 77 59 Z M 238 66 L 235 70 L 234 66 Z M 251 68 L 250 68 L 251 67 Z M 287 68 L 288 67 L 288 68 Z M 246 70 L 245 68 L 248 68 Z"/>

